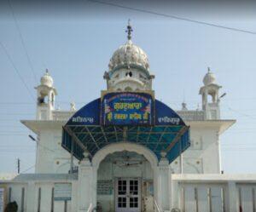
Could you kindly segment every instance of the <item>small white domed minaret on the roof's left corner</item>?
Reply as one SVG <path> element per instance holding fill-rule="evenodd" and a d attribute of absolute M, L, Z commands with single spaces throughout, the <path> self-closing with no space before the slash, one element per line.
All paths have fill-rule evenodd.
<path fill-rule="evenodd" d="M 53 78 L 49 75 L 47 69 L 44 76 L 41 77 L 40 85 L 35 89 L 38 91 L 37 119 L 51 120 L 52 111 L 55 109 L 55 95 L 57 95 L 57 91 L 53 87 Z"/>

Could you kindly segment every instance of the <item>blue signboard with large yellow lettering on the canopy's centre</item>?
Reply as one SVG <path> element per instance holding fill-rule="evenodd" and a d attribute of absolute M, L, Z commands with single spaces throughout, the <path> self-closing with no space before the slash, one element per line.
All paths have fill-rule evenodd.
<path fill-rule="evenodd" d="M 146 93 L 109 93 L 102 98 L 103 125 L 153 125 L 154 100 Z"/>

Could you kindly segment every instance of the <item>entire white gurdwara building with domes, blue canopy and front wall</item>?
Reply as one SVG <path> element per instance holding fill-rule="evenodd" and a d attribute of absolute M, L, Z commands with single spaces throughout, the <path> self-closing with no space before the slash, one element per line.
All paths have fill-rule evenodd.
<path fill-rule="evenodd" d="M 77 110 L 55 109 L 49 72 L 35 89 L 35 120 L 21 120 L 37 137 L 35 174 L 0 181 L 0 212 L 255 212 L 256 175 L 221 171 L 221 86 L 208 70 L 202 108 L 174 112 L 152 84 L 147 54 L 128 40 L 104 73 L 107 89 Z M 208 98 L 208 97 L 211 98 Z M 234 164 L 235 165 L 235 164 Z"/>

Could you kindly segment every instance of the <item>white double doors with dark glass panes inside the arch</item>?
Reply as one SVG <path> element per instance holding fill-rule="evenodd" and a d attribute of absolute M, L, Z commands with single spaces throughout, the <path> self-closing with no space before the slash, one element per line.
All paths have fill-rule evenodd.
<path fill-rule="evenodd" d="M 115 212 L 141 211 L 141 179 L 117 178 L 115 180 Z"/>

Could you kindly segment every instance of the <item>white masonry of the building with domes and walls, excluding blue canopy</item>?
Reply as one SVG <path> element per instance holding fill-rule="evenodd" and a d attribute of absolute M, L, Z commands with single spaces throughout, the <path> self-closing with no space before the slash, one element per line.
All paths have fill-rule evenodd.
<path fill-rule="evenodd" d="M 127 43 L 113 53 L 109 70 L 104 73 L 108 91 L 152 91 L 154 75 L 149 71 L 147 54 L 128 37 Z M 61 80 L 61 79 L 58 79 Z M 235 120 L 220 117 L 220 98 L 216 77 L 209 70 L 200 89 L 201 110 L 185 104 L 177 113 L 190 126 L 191 146 L 169 164 L 160 161 L 144 146 L 119 142 L 99 150 L 90 161 L 73 158 L 78 172 L 68 174 L 71 156 L 61 147 L 61 130 L 76 112 L 55 109 L 53 78 L 47 71 L 38 85 L 35 120 L 22 120 L 38 135 L 36 173 L 1 180 L 6 201 L 16 201 L 22 212 L 72 211 L 241 211 L 254 212 L 256 175 L 222 175 L 221 134 Z M 208 95 L 212 97 L 208 101 Z M 120 185 L 128 183 L 137 206 L 121 210 L 117 205 Z M 71 187 L 71 199 L 55 200 L 57 186 Z M 120 185 L 119 185 L 120 184 Z M 54 188 L 54 189 L 53 189 Z M 134 199 L 135 199 L 134 198 Z M 130 200 L 131 201 L 131 200 Z"/>

